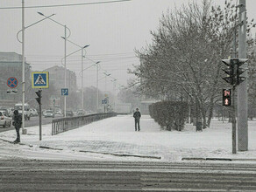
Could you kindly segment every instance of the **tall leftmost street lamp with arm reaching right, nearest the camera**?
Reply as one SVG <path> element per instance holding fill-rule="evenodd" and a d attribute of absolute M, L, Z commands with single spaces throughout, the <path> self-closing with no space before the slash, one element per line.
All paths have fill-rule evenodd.
<path fill-rule="evenodd" d="M 52 14 L 46 18 L 53 17 L 55 14 Z M 25 29 L 31 27 L 34 24 L 39 24 L 41 21 L 46 20 L 46 18 L 43 18 L 33 24 L 30 24 L 25 27 L 25 1 L 22 1 L 22 30 L 18 31 L 16 37 L 18 39 L 18 42 L 22 44 L 22 133 L 25 134 L 25 116 L 24 116 L 24 110 L 25 110 Z M 19 40 L 18 34 L 22 32 L 22 40 Z"/>

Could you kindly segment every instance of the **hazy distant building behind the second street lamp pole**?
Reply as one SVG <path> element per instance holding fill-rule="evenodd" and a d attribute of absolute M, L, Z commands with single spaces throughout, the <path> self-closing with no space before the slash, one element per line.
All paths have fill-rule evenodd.
<path fill-rule="evenodd" d="M 55 90 L 60 90 L 61 88 L 68 88 L 69 92 L 76 91 L 76 75 L 75 72 L 72 72 L 67 69 L 66 71 L 66 87 L 65 86 L 65 67 L 63 66 L 53 66 L 44 70 L 45 72 L 49 72 L 49 84 L 54 86 Z"/>

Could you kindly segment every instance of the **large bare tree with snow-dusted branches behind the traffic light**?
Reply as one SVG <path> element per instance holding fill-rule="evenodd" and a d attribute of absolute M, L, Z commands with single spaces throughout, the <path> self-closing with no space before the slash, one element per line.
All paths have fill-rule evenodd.
<path fill-rule="evenodd" d="M 236 7 L 224 9 L 204 0 L 168 10 L 160 27 L 152 31 L 153 44 L 136 51 L 141 60 L 132 71 L 143 93 L 165 95 L 165 99 L 187 99 L 195 107 L 196 122 L 210 127 L 214 104 L 225 85 L 222 58 L 230 55 L 237 22 Z M 248 28 L 250 29 L 250 27 Z M 249 32 L 249 31 L 248 31 Z"/>

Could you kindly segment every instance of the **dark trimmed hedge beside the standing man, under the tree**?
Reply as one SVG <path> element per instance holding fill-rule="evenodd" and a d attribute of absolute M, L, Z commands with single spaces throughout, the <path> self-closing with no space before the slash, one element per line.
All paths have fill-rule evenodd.
<path fill-rule="evenodd" d="M 149 114 L 163 129 L 181 131 L 188 117 L 188 103 L 160 101 L 149 106 Z"/>

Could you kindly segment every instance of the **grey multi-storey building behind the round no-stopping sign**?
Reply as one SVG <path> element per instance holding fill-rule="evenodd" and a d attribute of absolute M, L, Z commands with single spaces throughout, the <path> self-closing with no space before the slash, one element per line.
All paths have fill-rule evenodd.
<path fill-rule="evenodd" d="M 0 52 L 0 106 L 13 106 L 22 100 L 22 55 L 16 52 Z M 18 79 L 18 94 L 8 94 L 7 79 Z M 25 91 L 31 88 L 31 65 L 25 62 Z M 27 98 L 25 98 L 26 100 Z"/>

